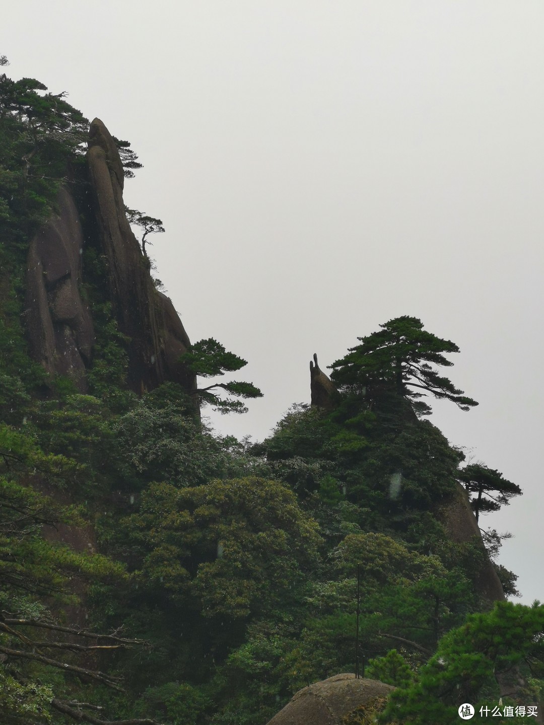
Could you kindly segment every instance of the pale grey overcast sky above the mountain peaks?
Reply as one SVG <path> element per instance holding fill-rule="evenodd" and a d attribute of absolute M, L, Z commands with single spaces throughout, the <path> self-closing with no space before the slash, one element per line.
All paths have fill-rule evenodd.
<path fill-rule="evenodd" d="M 193 341 L 265 397 L 218 431 L 263 439 L 357 337 L 399 315 L 461 348 L 479 407 L 434 405 L 524 490 L 485 525 L 544 600 L 541 0 L 4 2 L 0 54 L 131 141 L 125 202 Z"/>

